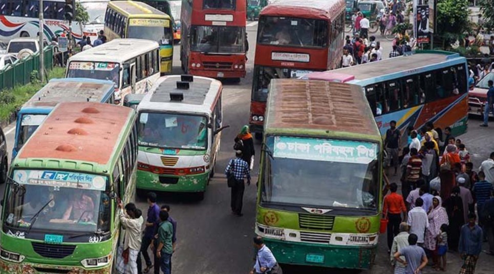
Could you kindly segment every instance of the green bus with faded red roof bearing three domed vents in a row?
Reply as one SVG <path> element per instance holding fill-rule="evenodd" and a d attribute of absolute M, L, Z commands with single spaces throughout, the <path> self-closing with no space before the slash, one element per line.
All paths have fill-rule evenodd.
<path fill-rule="evenodd" d="M 0 273 L 116 273 L 117 202 L 134 200 L 135 110 L 59 103 L 13 160 Z"/>

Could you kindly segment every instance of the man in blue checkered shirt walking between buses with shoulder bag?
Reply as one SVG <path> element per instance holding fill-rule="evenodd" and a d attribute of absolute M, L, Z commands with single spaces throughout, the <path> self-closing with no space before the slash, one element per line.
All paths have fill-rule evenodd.
<path fill-rule="evenodd" d="M 247 178 L 247 185 L 250 186 L 250 168 L 247 162 L 242 159 L 242 151 L 235 150 L 235 158 L 231 159 L 225 169 L 225 174 L 233 173 L 235 179 L 238 180 L 231 188 L 231 211 L 234 215 L 243 216 L 242 200 L 244 198 L 244 178 Z"/>

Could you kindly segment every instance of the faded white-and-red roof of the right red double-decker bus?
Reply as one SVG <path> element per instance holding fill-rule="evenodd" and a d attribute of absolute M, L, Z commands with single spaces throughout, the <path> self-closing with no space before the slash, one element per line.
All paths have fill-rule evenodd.
<path fill-rule="evenodd" d="M 260 16 L 280 16 L 330 20 L 345 10 L 345 0 L 275 0 L 266 6 Z"/>

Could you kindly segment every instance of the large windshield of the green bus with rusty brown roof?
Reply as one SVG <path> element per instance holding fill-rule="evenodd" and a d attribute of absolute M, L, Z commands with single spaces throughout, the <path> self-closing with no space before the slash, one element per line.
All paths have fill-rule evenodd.
<path fill-rule="evenodd" d="M 376 210 L 377 144 L 268 136 L 262 201 Z"/>

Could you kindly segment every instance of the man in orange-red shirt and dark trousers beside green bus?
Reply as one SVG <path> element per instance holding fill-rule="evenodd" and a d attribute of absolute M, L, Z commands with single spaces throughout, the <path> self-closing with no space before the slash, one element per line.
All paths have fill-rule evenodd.
<path fill-rule="evenodd" d="M 388 219 L 388 253 L 390 253 L 393 238 L 400 232 L 401 213 L 406 222 L 406 207 L 403 196 L 396 193 L 398 186 L 395 182 L 390 184 L 391 193 L 384 197 L 382 216 Z"/>

